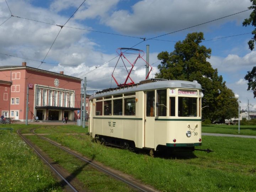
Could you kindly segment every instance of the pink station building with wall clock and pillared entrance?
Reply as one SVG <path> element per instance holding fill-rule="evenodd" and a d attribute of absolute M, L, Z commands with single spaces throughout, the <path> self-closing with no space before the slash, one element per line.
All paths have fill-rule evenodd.
<path fill-rule="evenodd" d="M 81 105 L 81 79 L 26 66 L 0 66 L 1 113 L 5 117 L 26 120 L 70 120 L 78 118 Z M 4 103 L 4 104 L 3 104 Z"/>

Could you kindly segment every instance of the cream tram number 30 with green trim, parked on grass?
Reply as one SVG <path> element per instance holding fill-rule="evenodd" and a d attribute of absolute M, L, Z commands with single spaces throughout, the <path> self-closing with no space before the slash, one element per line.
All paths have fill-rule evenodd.
<path fill-rule="evenodd" d="M 92 138 L 124 148 L 187 149 L 202 144 L 201 85 L 162 80 L 106 89 L 90 100 Z"/>

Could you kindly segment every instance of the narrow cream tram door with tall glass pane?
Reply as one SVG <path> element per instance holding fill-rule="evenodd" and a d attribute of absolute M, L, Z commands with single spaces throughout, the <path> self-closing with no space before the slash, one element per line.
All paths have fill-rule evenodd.
<path fill-rule="evenodd" d="M 145 94 L 145 147 L 155 148 L 155 91 Z"/>

